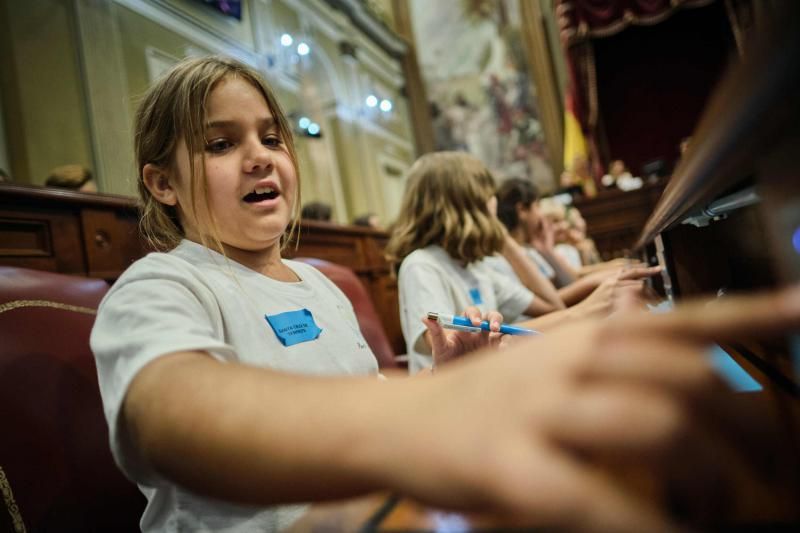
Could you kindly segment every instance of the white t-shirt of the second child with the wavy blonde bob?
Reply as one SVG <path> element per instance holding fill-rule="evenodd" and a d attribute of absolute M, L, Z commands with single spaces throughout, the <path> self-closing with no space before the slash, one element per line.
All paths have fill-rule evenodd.
<path fill-rule="evenodd" d="M 482 261 L 462 266 L 440 246 L 411 252 L 398 273 L 400 325 L 408 351 L 408 370 L 416 373 L 431 366 L 422 318 L 429 311 L 461 314 L 474 305 L 481 312 L 500 311 L 513 322 L 533 301 L 533 293 L 519 282 L 498 274 Z"/>

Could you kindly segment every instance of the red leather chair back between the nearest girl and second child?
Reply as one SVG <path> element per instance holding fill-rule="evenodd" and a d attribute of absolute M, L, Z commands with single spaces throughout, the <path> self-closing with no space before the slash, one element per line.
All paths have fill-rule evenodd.
<path fill-rule="evenodd" d="M 361 334 L 364 335 L 364 339 L 372 349 L 372 353 L 378 359 L 378 366 L 380 368 L 397 368 L 398 364 L 394 358 L 394 350 L 392 350 L 392 345 L 389 343 L 389 338 L 383 329 L 380 316 L 375 310 L 375 305 L 372 303 L 367 289 L 364 288 L 364 284 L 361 283 L 355 272 L 346 266 L 337 265 L 323 259 L 295 257 L 294 260 L 302 261 L 315 267 L 341 289 L 350 300 L 350 303 L 353 304 Z"/>

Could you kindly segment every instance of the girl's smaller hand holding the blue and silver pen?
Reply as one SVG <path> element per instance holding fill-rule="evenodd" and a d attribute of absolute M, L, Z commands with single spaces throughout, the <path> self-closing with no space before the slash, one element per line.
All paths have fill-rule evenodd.
<path fill-rule="evenodd" d="M 481 321 L 487 320 L 492 331 L 471 333 L 445 329 L 435 320 L 427 317 L 422 319 L 428 328 L 425 335 L 433 352 L 434 366 L 442 365 L 451 359 L 486 346 L 496 347 L 499 345 L 500 337 L 502 337 L 500 324 L 503 323 L 503 315 L 497 311 L 489 311 L 485 315 L 481 315 L 480 309 L 470 306 L 464 311 L 463 316 L 469 318 L 472 324 L 478 327 L 480 327 Z"/>

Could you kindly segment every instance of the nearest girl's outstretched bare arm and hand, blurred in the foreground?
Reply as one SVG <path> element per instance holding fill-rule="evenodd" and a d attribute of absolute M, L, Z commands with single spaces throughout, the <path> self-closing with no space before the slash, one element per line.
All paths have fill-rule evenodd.
<path fill-rule="evenodd" d="M 295 376 L 180 352 L 134 379 L 121 430 L 162 475 L 242 503 L 382 488 L 523 525 L 664 530 L 670 508 L 707 516 L 693 495 L 713 479 L 730 498 L 714 507 L 720 513 L 763 486 L 789 502 L 771 512 L 796 519 L 797 488 L 789 492 L 781 464 L 759 471 L 766 483 L 737 477 L 748 470 L 735 466 L 751 456 L 739 439 L 721 437 L 746 424 L 714 411 L 726 404 L 703 354 L 712 340 L 797 328 L 798 302 L 795 289 L 713 313 L 695 305 L 581 321 L 425 380 Z M 776 449 L 758 444 L 765 454 Z M 722 452 L 726 461 L 712 460 Z M 675 469 L 702 474 L 672 476 Z M 653 473 L 652 490 L 625 475 L 636 471 Z"/>

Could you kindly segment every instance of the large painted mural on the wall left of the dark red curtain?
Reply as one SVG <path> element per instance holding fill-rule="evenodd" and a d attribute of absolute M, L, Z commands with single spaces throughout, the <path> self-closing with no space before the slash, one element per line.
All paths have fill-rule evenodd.
<path fill-rule="evenodd" d="M 437 150 L 479 157 L 498 181 L 555 186 L 528 72 L 518 0 L 411 0 Z"/>

